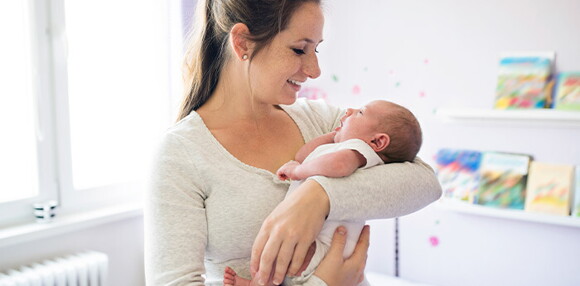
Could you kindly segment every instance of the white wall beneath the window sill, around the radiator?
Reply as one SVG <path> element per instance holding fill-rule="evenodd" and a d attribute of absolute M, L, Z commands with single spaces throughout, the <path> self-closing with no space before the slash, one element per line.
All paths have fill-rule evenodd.
<path fill-rule="evenodd" d="M 142 217 L 0 248 L 0 270 L 85 250 L 109 256 L 108 285 L 145 285 Z"/>

